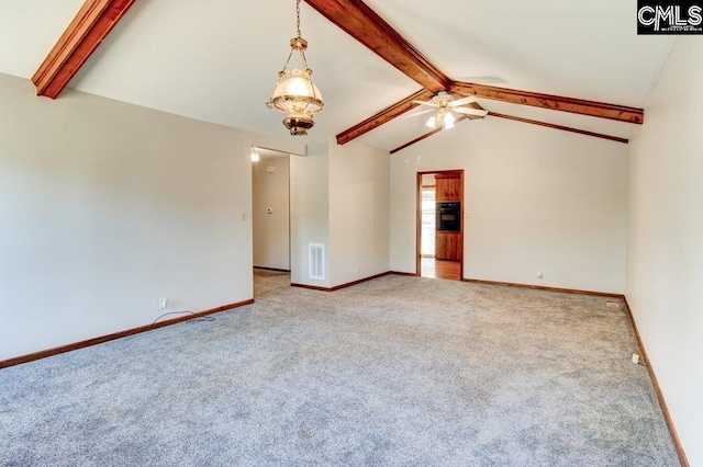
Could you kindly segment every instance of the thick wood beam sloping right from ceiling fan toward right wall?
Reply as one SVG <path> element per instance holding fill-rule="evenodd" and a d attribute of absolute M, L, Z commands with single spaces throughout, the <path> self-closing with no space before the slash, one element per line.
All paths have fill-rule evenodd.
<path fill-rule="evenodd" d="M 641 125 L 645 119 L 645 111 L 641 109 L 540 94 L 529 91 L 517 91 L 493 86 L 454 81 L 451 82 L 450 91 L 462 95 L 476 95 L 477 98 L 510 102 L 512 104 L 532 105 L 553 111 L 571 112 L 639 125 Z"/>

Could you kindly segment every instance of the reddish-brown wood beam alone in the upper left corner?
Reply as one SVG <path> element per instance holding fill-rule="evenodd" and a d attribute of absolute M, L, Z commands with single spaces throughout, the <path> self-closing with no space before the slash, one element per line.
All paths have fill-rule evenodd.
<path fill-rule="evenodd" d="M 36 94 L 56 99 L 135 0 L 86 0 L 32 77 Z"/>

